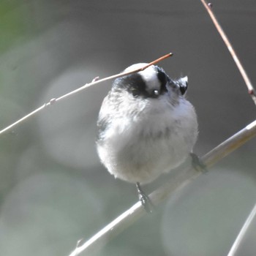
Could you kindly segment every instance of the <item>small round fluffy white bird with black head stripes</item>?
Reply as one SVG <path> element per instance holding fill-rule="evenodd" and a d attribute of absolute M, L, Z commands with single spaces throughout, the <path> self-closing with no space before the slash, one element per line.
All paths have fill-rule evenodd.
<path fill-rule="evenodd" d="M 145 67 L 133 64 L 124 72 Z M 141 203 L 149 198 L 140 184 L 181 165 L 197 140 L 195 108 L 187 101 L 187 77 L 171 79 L 161 67 L 116 78 L 102 102 L 97 152 L 116 178 L 136 184 Z"/>

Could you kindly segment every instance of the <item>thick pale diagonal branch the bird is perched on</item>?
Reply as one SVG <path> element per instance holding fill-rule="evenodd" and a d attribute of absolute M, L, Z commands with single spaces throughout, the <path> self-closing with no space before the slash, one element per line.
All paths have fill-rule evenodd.
<path fill-rule="evenodd" d="M 246 141 L 252 139 L 256 135 L 256 120 L 253 121 L 251 124 L 247 125 L 244 129 L 237 132 L 232 137 L 225 140 L 219 146 L 208 152 L 204 157 L 202 157 L 203 163 L 206 165 L 207 168 L 211 167 L 212 165 L 219 162 L 220 159 L 230 154 L 236 148 L 240 147 Z M 154 192 L 149 195 L 151 198 L 152 203 L 155 206 L 165 200 L 167 197 L 169 198 L 173 195 L 178 189 L 181 189 L 190 181 L 200 176 L 200 172 L 191 169 L 185 173 L 181 172 L 175 178 L 172 178 L 162 187 L 155 190 Z M 129 210 L 125 211 L 119 217 L 117 217 L 113 222 L 110 222 L 107 226 L 105 226 L 102 230 L 100 230 L 96 235 L 91 237 L 88 241 L 84 244 L 80 245 L 75 248 L 75 250 L 69 256 L 82 256 L 82 255 L 89 255 L 89 253 L 100 249 L 102 245 L 106 244 L 112 238 L 117 236 L 121 233 L 124 229 L 132 225 L 136 222 L 140 217 L 146 214 L 146 211 L 141 206 L 141 203 L 135 203 L 134 206 L 129 208 Z"/>

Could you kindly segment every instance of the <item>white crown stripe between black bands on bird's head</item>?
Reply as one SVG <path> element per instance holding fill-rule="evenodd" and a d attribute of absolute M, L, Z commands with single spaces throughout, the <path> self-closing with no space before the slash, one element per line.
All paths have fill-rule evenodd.
<path fill-rule="evenodd" d="M 145 67 L 146 64 L 148 63 L 133 64 L 132 66 L 127 67 L 124 71 L 139 69 L 140 67 Z M 143 71 L 138 72 L 138 74 L 140 74 L 142 79 L 146 82 L 148 89 L 159 89 L 160 83 L 154 66 L 147 67 Z"/>

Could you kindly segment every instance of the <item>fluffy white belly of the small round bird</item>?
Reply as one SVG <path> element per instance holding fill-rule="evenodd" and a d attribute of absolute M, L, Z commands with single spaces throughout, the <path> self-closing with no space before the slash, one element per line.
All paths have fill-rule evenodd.
<path fill-rule="evenodd" d="M 124 181 L 145 184 L 180 165 L 197 139 L 197 118 L 184 99 L 175 110 L 157 111 L 148 118 L 121 118 L 98 144 L 108 171 Z"/>

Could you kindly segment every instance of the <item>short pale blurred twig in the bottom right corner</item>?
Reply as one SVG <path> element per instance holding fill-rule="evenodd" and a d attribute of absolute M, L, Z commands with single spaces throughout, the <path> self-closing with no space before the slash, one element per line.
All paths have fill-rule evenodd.
<path fill-rule="evenodd" d="M 238 233 L 238 236 L 236 237 L 236 240 L 235 240 L 233 246 L 231 247 L 230 252 L 228 252 L 227 256 L 236 255 L 237 249 L 240 246 L 241 241 L 243 241 L 244 236 L 245 236 L 247 230 L 249 229 L 249 225 L 251 225 L 252 220 L 255 218 L 255 216 L 256 216 L 256 204 L 252 208 L 252 211 L 250 212 L 248 218 L 246 219 L 246 222 L 244 222 L 244 225 L 241 228 L 240 232 Z"/>

